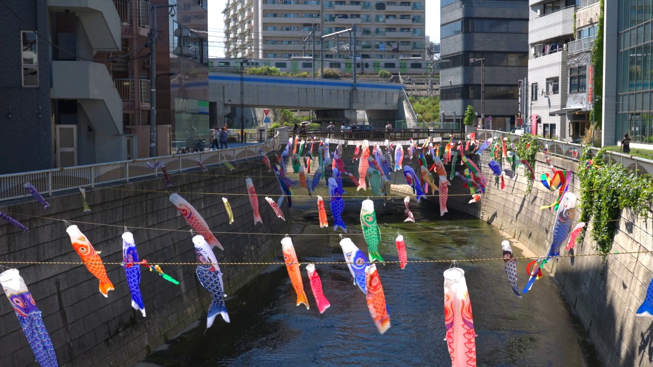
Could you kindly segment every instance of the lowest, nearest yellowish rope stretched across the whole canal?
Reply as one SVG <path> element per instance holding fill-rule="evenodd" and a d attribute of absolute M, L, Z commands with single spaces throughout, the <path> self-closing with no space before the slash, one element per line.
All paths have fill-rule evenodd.
<path fill-rule="evenodd" d="M 634 255 L 634 254 L 639 254 L 639 253 L 652 253 L 653 251 L 624 251 L 624 252 L 605 252 L 605 253 L 581 253 L 578 255 L 558 255 L 558 256 L 552 256 L 550 259 L 560 259 L 560 258 L 565 258 L 565 257 L 590 257 L 590 256 L 613 256 L 613 255 Z M 514 257 L 513 260 L 538 260 L 538 259 L 543 259 L 544 257 L 529 257 L 529 256 L 520 256 L 520 257 Z M 376 264 L 400 264 L 400 263 L 417 263 L 417 264 L 429 264 L 429 263 L 453 263 L 454 261 L 458 263 L 480 263 L 480 262 L 485 262 L 485 261 L 505 261 L 503 257 L 486 257 L 486 258 L 481 258 L 481 259 L 447 259 L 447 260 L 407 260 L 407 261 L 382 261 Z M 77 261 L 0 261 L 0 264 L 43 264 L 43 265 L 126 265 L 126 264 L 131 264 L 131 263 L 84 263 L 84 262 L 77 262 Z M 148 264 L 150 265 L 206 265 L 206 263 L 150 263 L 148 261 Z M 219 263 L 219 265 L 283 265 L 283 264 L 288 264 L 288 265 L 293 265 L 293 264 L 298 264 L 298 265 L 306 265 L 306 264 L 323 264 L 323 265 L 328 265 L 328 264 L 356 264 L 356 262 L 353 261 L 298 261 L 296 263 L 282 263 L 281 261 L 270 261 L 270 262 L 261 262 L 261 263 Z M 368 261 L 365 264 L 373 264 L 372 262 Z"/>

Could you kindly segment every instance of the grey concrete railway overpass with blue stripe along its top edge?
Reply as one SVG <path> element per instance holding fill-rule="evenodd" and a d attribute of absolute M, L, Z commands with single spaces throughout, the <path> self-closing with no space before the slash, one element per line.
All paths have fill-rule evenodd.
<path fill-rule="evenodd" d="M 210 102 L 217 107 L 214 112 L 217 121 L 227 116 L 232 106 L 240 107 L 240 88 L 239 74 L 209 74 Z M 370 120 L 413 121 L 412 116 L 415 116 L 404 84 L 359 80 L 354 89 L 350 80 L 246 74 L 242 78 L 242 88 L 242 105 L 249 108 L 341 110 L 349 120 L 360 120 L 357 112 L 360 116 L 363 111 Z"/>

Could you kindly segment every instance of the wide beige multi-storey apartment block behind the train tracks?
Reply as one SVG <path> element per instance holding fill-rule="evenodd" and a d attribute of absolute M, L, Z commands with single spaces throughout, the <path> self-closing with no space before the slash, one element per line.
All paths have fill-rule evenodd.
<path fill-rule="evenodd" d="M 319 57 L 320 35 L 355 24 L 357 53 L 363 59 L 424 57 L 425 6 L 426 0 L 229 0 L 223 10 L 225 55 L 313 56 L 309 36 L 315 29 L 315 57 Z M 347 36 L 325 40 L 324 58 L 351 57 L 349 42 Z"/>

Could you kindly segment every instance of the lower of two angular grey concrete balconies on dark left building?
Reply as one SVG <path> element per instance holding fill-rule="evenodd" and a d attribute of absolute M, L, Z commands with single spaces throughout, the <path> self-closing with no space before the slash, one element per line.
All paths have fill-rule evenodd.
<path fill-rule="evenodd" d="M 52 61 L 51 99 L 76 99 L 93 129 L 123 133 L 123 103 L 106 67 L 88 61 Z"/>

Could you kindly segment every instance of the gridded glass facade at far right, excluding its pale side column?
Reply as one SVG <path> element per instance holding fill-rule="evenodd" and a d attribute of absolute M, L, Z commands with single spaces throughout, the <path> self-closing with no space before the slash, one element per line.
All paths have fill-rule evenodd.
<path fill-rule="evenodd" d="M 652 2 L 618 4 L 615 138 L 629 133 L 632 142 L 653 144 Z M 605 99 L 605 103 L 613 101 Z"/>

